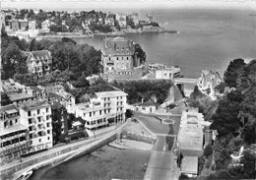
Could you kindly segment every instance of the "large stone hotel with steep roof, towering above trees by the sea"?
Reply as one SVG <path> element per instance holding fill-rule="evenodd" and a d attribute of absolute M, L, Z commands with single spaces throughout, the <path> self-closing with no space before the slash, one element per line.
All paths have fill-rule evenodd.
<path fill-rule="evenodd" d="M 138 79 L 143 76 L 139 67 L 145 60 L 136 52 L 140 45 L 132 40 L 117 36 L 105 38 L 101 50 L 104 77 L 109 79 Z M 111 78 L 110 78 L 111 77 Z"/>

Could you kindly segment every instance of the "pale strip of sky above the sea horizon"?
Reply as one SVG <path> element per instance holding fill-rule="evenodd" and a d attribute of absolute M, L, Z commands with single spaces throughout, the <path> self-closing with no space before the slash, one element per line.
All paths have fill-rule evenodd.
<path fill-rule="evenodd" d="M 105 10 L 155 8 L 250 8 L 256 0 L 1 0 L 1 8 Z"/>

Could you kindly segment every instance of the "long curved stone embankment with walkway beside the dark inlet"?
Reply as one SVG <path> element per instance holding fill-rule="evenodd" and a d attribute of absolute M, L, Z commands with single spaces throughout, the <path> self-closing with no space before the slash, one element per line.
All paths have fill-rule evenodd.
<path fill-rule="evenodd" d="M 96 139 L 85 140 L 77 142 L 74 144 L 69 144 L 63 147 L 58 147 L 56 149 L 51 149 L 24 158 L 23 162 L 13 162 L 12 164 L 7 164 L 0 167 L 0 179 L 10 179 L 16 178 L 22 175 L 32 168 L 40 168 L 48 164 L 60 164 L 70 158 L 78 157 L 94 150 L 97 150 L 116 139 L 122 128 L 126 125 L 122 124 L 115 130 L 105 133 L 101 137 L 96 137 Z"/>

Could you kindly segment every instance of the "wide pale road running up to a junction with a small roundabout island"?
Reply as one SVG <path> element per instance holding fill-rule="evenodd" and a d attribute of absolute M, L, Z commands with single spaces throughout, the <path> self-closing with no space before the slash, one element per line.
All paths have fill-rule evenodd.
<path fill-rule="evenodd" d="M 172 147 L 175 136 L 178 133 L 181 113 L 185 109 L 185 105 L 180 103 L 172 109 L 170 119 L 173 124 L 162 124 L 160 119 L 167 116 L 145 115 L 135 113 L 138 118 L 152 133 L 157 136 L 157 142 L 151 154 L 150 161 L 144 176 L 144 180 L 176 180 L 179 176 L 179 169 L 176 166 Z"/>

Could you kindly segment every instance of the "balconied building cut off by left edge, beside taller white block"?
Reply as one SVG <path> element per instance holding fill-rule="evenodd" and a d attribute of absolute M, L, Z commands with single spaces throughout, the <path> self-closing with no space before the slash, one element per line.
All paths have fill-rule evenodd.
<path fill-rule="evenodd" d="M 14 104 L 0 109 L 0 164 L 19 159 L 31 146 L 28 127 L 21 123 Z"/>

